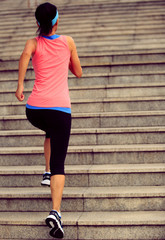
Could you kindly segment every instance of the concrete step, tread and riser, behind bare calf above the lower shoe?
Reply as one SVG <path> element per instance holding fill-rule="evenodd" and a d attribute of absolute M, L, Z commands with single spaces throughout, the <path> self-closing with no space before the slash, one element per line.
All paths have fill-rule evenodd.
<path fill-rule="evenodd" d="M 165 186 L 66 187 L 61 211 L 164 211 L 164 198 Z M 1 212 L 44 212 L 50 209 L 48 187 L 0 188 Z"/>

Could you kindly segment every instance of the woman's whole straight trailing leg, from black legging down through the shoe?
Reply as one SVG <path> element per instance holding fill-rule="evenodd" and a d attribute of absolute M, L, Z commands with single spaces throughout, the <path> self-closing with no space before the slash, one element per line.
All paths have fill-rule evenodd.
<path fill-rule="evenodd" d="M 51 143 L 51 196 L 52 211 L 46 218 L 49 227 L 53 223 L 50 235 L 55 238 L 62 238 L 64 235 L 61 225 L 61 201 L 65 184 L 64 162 L 69 144 L 71 115 L 59 111 L 53 111 L 49 119 L 50 143 Z"/>

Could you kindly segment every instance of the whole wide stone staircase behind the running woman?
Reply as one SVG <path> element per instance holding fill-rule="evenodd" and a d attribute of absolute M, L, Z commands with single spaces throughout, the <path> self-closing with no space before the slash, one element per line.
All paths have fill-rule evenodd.
<path fill-rule="evenodd" d="M 35 1 L 1 2 L 0 240 L 52 239 L 50 189 L 40 187 L 44 135 L 14 96 L 19 56 L 35 36 Z M 69 75 L 65 239 L 165 239 L 165 2 L 51 2 L 58 34 L 74 38 L 83 66 L 82 79 Z M 26 99 L 33 82 L 30 64 Z"/>

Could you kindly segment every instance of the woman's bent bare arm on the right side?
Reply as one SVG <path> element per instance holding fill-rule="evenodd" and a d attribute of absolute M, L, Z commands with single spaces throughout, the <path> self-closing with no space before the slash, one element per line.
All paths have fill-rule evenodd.
<path fill-rule="evenodd" d="M 82 68 L 77 54 L 76 45 L 74 40 L 69 36 L 67 36 L 67 42 L 71 52 L 69 69 L 76 77 L 80 78 L 82 76 Z"/>

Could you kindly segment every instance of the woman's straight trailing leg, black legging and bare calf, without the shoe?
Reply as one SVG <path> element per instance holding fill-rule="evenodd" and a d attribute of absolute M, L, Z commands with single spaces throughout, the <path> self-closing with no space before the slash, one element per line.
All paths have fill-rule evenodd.
<path fill-rule="evenodd" d="M 51 195 L 53 210 L 60 211 L 65 183 L 64 162 L 67 154 L 71 130 L 71 115 L 58 112 L 56 127 L 50 131 L 51 156 Z"/>

